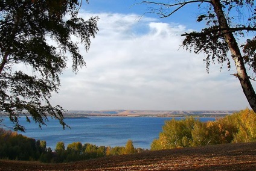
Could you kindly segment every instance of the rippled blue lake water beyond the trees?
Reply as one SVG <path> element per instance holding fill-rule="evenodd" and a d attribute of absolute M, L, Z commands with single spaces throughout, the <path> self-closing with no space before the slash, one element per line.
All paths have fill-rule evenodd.
<path fill-rule="evenodd" d="M 150 149 L 154 138 L 158 138 L 159 132 L 165 120 L 170 117 L 78 117 L 66 118 L 65 122 L 71 129 L 62 129 L 57 120 L 50 120 L 47 126 L 38 128 L 34 123 L 20 119 L 21 125 L 25 126 L 26 132 L 19 132 L 36 140 L 45 140 L 47 147 L 55 149 L 56 143 L 63 141 L 65 146 L 73 142 L 92 143 L 97 146 L 125 146 L 127 140 L 132 140 L 135 148 Z M 176 117 L 175 119 L 182 119 Z M 200 118 L 203 122 L 215 120 L 212 117 Z M 7 126 L 11 123 L 7 118 L 2 122 Z M 1 126 L 1 125 L 0 125 Z M 6 129 L 6 128 L 5 128 Z"/>

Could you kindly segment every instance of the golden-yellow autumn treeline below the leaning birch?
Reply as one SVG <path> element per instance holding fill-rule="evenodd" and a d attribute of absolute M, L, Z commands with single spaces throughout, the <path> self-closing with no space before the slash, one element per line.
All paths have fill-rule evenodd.
<path fill-rule="evenodd" d="M 256 141 L 256 113 L 242 110 L 216 121 L 168 120 L 151 150 Z"/>

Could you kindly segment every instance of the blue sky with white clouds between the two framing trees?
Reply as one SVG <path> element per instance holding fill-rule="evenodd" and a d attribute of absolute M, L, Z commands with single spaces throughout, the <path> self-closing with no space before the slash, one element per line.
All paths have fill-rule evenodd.
<path fill-rule="evenodd" d="M 91 48 L 80 52 L 86 67 L 60 76 L 51 102 L 66 110 L 243 110 L 242 88 L 224 64 L 203 63 L 204 54 L 181 47 L 181 34 L 200 30 L 198 9 L 184 8 L 167 19 L 146 13 L 135 0 L 83 2 L 79 16 L 98 16 Z M 198 11 L 199 12 L 199 11 Z"/>

